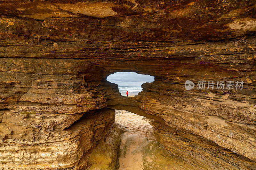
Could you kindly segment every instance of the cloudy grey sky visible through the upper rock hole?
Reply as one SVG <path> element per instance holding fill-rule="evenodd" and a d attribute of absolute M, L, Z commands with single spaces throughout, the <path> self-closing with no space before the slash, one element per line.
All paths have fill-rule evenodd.
<path fill-rule="evenodd" d="M 118 86 L 140 87 L 145 82 L 154 81 L 155 77 L 132 72 L 117 72 L 108 76 L 107 81 Z"/>

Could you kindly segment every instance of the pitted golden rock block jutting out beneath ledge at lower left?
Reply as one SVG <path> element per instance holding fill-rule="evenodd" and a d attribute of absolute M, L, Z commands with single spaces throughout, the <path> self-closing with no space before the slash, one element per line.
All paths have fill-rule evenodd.
<path fill-rule="evenodd" d="M 100 147 L 98 141 L 105 138 L 115 118 L 111 109 L 73 116 L 1 113 L 3 169 L 89 168 L 88 153 Z"/>

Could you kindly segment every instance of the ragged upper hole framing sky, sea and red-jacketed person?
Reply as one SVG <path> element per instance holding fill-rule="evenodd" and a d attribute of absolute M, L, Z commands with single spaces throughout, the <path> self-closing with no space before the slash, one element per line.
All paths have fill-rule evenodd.
<path fill-rule="evenodd" d="M 154 76 L 147 74 L 137 74 L 135 72 L 116 72 L 107 77 L 107 81 L 118 85 L 118 90 L 122 96 L 133 97 L 142 91 L 141 85 L 146 82 L 153 82 Z"/>

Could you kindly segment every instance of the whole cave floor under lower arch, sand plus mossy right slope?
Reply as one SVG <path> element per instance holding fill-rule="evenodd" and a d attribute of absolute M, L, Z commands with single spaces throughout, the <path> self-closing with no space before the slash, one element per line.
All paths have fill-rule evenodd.
<path fill-rule="evenodd" d="M 116 110 L 116 123 L 126 129 L 121 135 L 119 170 L 190 170 L 186 162 L 156 141 L 153 126 L 146 117 Z"/>

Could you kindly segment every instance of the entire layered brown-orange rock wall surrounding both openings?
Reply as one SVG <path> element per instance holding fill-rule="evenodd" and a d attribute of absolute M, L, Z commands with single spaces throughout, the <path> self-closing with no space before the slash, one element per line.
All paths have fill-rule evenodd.
<path fill-rule="evenodd" d="M 114 169 L 118 109 L 153 119 L 180 169 L 256 169 L 255 8 L 254 0 L 0 0 L 0 167 Z M 156 78 L 126 98 L 106 81 L 119 71 Z M 187 80 L 244 84 L 186 90 Z M 98 165 L 102 148 L 109 157 Z"/>

